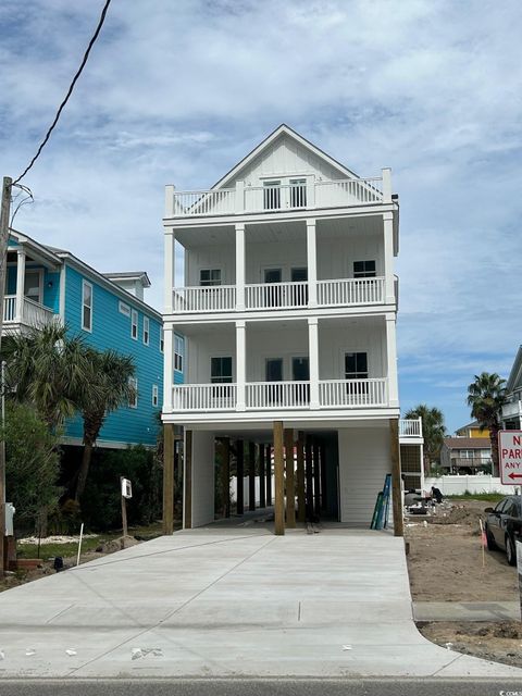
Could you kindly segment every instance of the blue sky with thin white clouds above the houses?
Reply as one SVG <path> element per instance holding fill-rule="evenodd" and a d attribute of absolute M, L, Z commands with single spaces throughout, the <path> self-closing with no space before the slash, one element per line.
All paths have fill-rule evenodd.
<path fill-rule="evenodd" d="M 0 175 L 27 165 L 103 0 L 0 4 Z M 522 343 L 520 0 L 113 0 L 14 227 L 161 309 L 164 185 L 210 187 L 281 123 L 400 197 L 401 408 L 470 421 Z"/>

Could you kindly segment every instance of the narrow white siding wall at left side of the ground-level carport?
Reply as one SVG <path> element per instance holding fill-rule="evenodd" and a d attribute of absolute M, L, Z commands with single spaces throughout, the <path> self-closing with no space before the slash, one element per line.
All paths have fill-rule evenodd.
<path fill-rule="evenodd" d="M 192 527 L 214 521 L 214 434 L 192 431 Z"/>

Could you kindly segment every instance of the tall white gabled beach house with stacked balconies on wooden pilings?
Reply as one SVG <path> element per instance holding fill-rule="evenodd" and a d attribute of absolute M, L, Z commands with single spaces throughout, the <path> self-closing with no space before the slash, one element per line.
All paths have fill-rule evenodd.
<path fill-rule="evenodd" d="M 166 187 L 163 422 L 184 427 L 186 527 L 216 490 L 229 514 L 231 462 L 250 482 L 236 511 L 275 497 L 276 533 L 368 526 L 387 473 L 400 490 L 399 430 L 419 444 L 420 423 L 399 423 L 396 198 L 388 169 L 361 178 L 286 125 L 210 190 Z"/>

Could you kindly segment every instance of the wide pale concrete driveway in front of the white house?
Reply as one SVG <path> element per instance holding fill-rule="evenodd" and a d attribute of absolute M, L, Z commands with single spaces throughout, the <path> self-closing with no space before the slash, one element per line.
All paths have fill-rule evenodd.
<path fill-rule="evenodd" d="M 522 676 L 423 638 L 370 531 L 161 537 L 2 593 L 0 650 L 4 678 Z"/>

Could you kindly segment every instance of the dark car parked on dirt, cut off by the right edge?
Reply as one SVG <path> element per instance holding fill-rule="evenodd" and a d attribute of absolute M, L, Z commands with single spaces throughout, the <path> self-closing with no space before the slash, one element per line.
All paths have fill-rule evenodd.
<path fill-rule="evenodd" d="M 502 548 L 510 566 L 517 566 L 515 542 L 522 542 L 521 496 L 507 496 L 494 508 L 486 508 L 487 548 Z"/>

